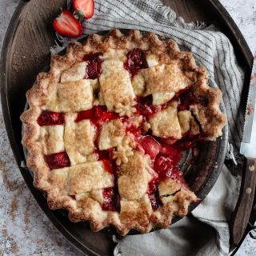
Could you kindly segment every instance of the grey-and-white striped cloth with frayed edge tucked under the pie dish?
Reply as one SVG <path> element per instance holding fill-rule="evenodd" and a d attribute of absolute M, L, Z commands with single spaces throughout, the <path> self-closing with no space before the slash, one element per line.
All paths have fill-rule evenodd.
<path fill-rule="evenodd" d="M 193 52 L 198 65 L 210 73 L 210 86 L 218 86 L 228 118 L 230 143 L 238 149 L 242 140 L 243 114 L 239 109 L 243 72 L 226 36 L 202 23 L 186 24 L 157 0 L 95 0 L 93 18 L 83 24 L 86 34 L 112 28 L 153 31 L 173 38 L 182 50 Z M 66 46 L 66 38 L 62 38 Z M 56 46 L 54 53 L 60 50 Z M 213 190 L 192 213 L 168 230 L 126 236 L 114 255 L 227 255 L 230 250 L 228 222 L 238 197 L 238 182 L 224 166 Z"/>

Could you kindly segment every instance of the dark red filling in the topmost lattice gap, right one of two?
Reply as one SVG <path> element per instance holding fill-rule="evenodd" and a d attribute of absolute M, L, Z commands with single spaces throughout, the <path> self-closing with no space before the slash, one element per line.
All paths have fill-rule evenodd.
<path fill-rule="evenodd" d="M 146 69 L 148 67 L 144 50 L 134 48 L 128 52 L 124 68 L 129 71 L 131 78 L 138 74 L 139 70 Z"/>

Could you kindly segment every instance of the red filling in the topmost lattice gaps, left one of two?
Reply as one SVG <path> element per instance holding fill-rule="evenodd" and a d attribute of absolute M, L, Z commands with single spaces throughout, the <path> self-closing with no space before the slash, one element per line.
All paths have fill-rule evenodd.
<path fill-rule="evenodd" d="M 87 62 L 86 66 L 86 79 L 96 79 L 102 73 L 102 53 L 86 54 L 84 60 Z"/>

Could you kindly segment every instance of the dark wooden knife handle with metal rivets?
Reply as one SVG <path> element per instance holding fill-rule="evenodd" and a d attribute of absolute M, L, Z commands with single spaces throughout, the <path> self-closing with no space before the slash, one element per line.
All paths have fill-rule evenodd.
<path fill-rule="evenodd" d="M 235 245 L 238 244 L 246 230 L 254 202 L 256 186 L 256 159 L 246 159 L 246 169 L 242 174 L 242 184 L 237 205 L 235 206 L 233 222 L 231 223 L 231 237 Z"/>

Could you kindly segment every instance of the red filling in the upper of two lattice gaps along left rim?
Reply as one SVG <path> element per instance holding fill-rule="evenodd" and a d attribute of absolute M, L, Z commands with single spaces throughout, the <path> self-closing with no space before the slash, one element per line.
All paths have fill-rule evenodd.
<path fill-rule="evenodd" d="M 62 125 L 65 122 L 64 114 L 49 110 L 42 110 L 38 117 L 39 126 L 55 126 Z"/>

